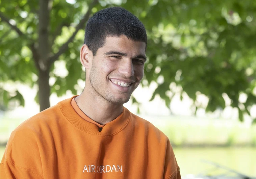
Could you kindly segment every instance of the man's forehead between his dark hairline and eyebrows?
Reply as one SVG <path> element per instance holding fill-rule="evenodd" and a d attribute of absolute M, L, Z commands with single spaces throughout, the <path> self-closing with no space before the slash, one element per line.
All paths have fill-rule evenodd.
<path fill-rule="evenodd" d="M 125 35 L 121 35 L 119 37 L 106 37 L 104 46 L 99 48 L 98 52 L 118 51 L 128 55 L 145 55 L 145 48 L 145 42 L 133 41 Z"/>

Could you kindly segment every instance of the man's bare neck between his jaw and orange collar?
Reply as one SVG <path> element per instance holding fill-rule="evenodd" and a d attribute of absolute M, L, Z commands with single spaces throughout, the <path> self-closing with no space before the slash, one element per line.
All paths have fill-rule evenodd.
<path fill-rule="evenodd" d="M 86 87 L 75 101 L 84 114 L 101 125 L 113 121 L 123 111 L 123 104 L 110 103 Z"/>

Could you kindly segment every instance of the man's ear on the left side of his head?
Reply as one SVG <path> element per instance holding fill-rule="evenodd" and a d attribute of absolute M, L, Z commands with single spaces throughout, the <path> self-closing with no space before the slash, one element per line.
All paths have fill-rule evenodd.
<path fill-rule="evenodd" d="M 81 64 L 86 68 L 89 69 L 91 67 L 93 59 L 92 51 L 88 48 L 87 45 L 83 45 L 80 50 L 80 61 Z"/>

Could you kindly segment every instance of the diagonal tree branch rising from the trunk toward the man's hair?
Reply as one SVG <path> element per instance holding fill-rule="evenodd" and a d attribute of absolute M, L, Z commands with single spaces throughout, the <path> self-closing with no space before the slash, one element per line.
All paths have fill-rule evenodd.
<path fill-rule="evenodd" d="M 83 16 L 83 19 L 80 20 L 79 24 L 76 26 L 76 30 L 75 32 L 72 34 L 72 36 L 66 41 L 66 43 L 64 43 L 60 48 L 59 51 L 54 54 L 53 56 L 50 57 L 49 59 L 49 65 L 53 64 L 58 58 L 59 56 L 64 53 L 67 49 L 68 49 L 68 44 L 70 42 L 73 41 L 73 39 L 75 38 L 77 32 L 83 28 L 83 25 L 85 24 L 85 22 L 89 19 L 89 16 L 91 14 L 91 10 L 92 8 L 98 3 L 98 0 L 93 0 L 93 2 L 89 5 L 88 11 L 86 12 L 86 14 Z"/>

